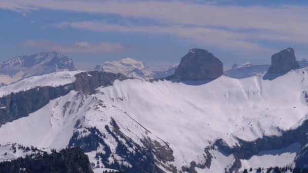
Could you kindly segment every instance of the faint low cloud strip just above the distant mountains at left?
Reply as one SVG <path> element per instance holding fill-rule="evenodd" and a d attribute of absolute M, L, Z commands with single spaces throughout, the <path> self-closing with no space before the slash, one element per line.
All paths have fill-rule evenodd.
<path fill-rule="evenodd" d="M 101 42 L 96 44 L 87 41 L 78 41 L 68 45 L 49 40 L 27 40 L 21 45 L 29 48 L 59 51 L 62 53 L 108 53 L 125 49 L 121 44 L 117 43 Z"/>

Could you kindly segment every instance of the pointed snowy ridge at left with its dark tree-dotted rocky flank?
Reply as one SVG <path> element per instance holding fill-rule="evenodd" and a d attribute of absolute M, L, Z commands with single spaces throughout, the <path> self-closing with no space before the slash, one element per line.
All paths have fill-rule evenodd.
<path fill-rule="evenodd" d="M 167 158 L 168 152 L 172 153 L 167 143 L 126 112 L 83 92 L 71 91 L 27 117 L 7 122 L 0 127 L 0 136 L 2 145 L 13 142 L 57 150 L 80 146 L 88 154 L 93 166 L 99 167 L 119 168 L 116 166 L 121 164 L 130 169 L 136 164 L 132 160 L 142 161 L 146 156 L 144 148 L 148 145 L 157 147 L 152 149 L 153 152 L 165 152 L 156 161 L 156 164 L 162 165 L 162 169 L 168 169 L 166 161 L 172 160 Z M 0 153 L 5 151 L 0 148 Z M 134 172 L 137 167 L 132 169 Z"/>

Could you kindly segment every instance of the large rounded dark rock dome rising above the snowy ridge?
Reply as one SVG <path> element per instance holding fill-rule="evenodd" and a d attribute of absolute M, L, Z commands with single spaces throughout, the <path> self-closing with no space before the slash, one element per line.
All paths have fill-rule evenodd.
<path fill-rule="evenodd" d="M 222 62 L 203 49 L 190 49 L 174 72 L 182 80 L 216 79 L 223 74 Z"/>

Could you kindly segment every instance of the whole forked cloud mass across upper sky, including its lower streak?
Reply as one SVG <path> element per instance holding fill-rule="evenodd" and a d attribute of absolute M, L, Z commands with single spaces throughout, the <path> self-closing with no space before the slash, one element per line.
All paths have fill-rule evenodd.
<path fill-rule="evenodd" d="M 191 1 L 190 1 L 191 2 Z M 194 1 L 193 1 L 194 2 Z M 119 25 L 97 21 L 63 22 L 71 27 L 100 32 L 173 34 L 205 45 L 245 51 L 264 51 L 256 40 L 308 44 L 308 7 L 218 6 L 187 1 L 56 1 L 3 0 L 0 8 L 51 9 L 93 14 L 114 14 L 157 21 L 156 25 Z"/>

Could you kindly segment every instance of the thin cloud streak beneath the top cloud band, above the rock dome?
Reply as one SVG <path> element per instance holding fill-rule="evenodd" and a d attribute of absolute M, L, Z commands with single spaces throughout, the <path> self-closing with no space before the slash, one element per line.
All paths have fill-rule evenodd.
<path fill-rule="evenodd" d="M 147 34 L 173 34 L 178 37 L 199 41 L 208 46 L 226 49 L 242 49 L 243 52 L 270 51 L 258 44 L 246 40 L 241 33 L 230 32 L 222 29 L 211 29 L 206 27 L 184 27 L 184 26 L 134 26 L 115 25 L 103 22 L 61 22 L 54 24 L 58 28 L 71 27 L 75 29 L 86 29 L 98 32 L 124 32 L 124 33 L 147 33 Z"/>

